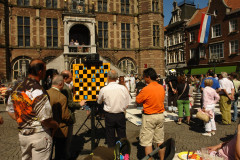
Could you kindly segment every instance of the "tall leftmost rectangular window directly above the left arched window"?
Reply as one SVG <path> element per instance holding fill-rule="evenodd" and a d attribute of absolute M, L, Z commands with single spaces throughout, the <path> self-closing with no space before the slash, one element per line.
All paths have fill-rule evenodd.
<path fill-rule="evenodd" d="M 18 22 L 18 46 L 30 46 L 30 18 L 17 17 Z"/>

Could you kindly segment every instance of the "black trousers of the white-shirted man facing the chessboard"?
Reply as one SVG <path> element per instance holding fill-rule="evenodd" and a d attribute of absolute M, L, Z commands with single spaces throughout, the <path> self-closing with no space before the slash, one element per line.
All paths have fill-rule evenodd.
<path fill-rule="evenodd" d="M 124 113 L 105 113 L 106 141 L 109 148 L 116 141 L 126 138 L 126 119 Z M 117 137 L 115 136 L 117 132 Z"/>

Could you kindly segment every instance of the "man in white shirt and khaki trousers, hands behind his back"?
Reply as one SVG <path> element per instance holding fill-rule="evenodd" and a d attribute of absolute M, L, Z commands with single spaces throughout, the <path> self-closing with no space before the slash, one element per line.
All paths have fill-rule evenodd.
<path fill-rule="evenodd" d="M 229 80 L 228 74 L 222 72 L 222 79 L 219 80 L 221 91 L 220 94 L 220 111 L 222 113 L 222 123 L 231 124 L 231 101 L 234 100 L 233 82 Z"/>

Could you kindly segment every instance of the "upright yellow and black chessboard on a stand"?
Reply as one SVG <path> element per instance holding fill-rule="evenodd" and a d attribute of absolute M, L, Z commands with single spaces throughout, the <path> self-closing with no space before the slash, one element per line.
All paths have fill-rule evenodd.
<path fill-rule="evenodd" d="M 73 100 L 96 101 L 96 95 L 107 82 L 107 73 L 110 70 L 110 63 L 103 65 L 73 64 Z"/>

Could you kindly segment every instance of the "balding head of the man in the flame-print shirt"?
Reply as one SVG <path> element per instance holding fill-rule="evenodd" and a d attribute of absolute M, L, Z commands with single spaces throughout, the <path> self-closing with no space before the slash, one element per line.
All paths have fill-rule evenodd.
<path fill-rule="evenodd" d="M 39 72 L 45 73 L 46 71 L 46 64 L 40 60 L 40 59 L 33 59 L 28 68 L 28 74 L 33 75 L 33 76 L 39 76 Z M 45 75 L 42 75 L 43 77 Z M 43 78 L 41 77 L 41 78 Z"/>

